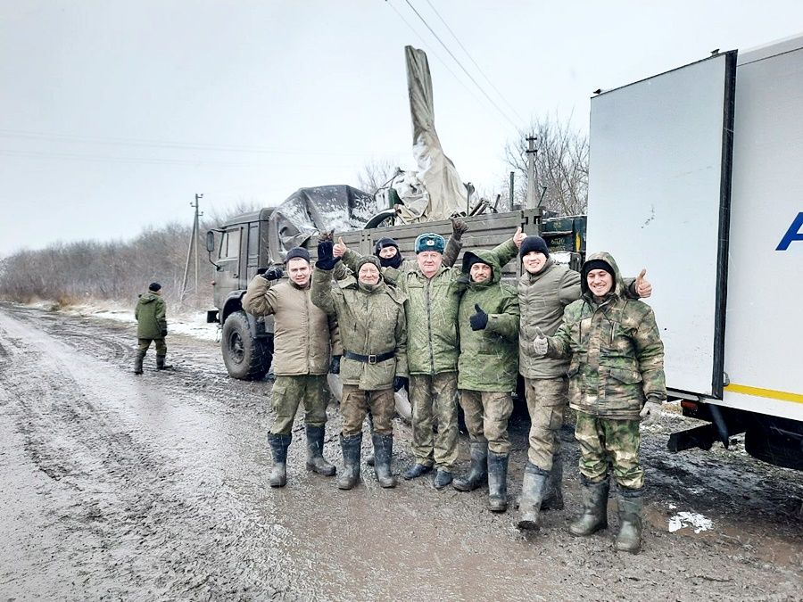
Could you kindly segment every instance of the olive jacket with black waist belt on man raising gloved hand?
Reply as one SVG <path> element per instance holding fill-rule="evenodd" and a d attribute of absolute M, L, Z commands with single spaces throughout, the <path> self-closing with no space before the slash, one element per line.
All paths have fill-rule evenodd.
<path fill-rule="evenodd" d="M 312 273 L 312 302 L 329 316 L 337 317 L 345 351 L 360 355 L 379 355 L 393 351 L 391 359 L 368 363 L 344 356 L 340 378 L 364 391 L 389 389 L 393 376 L 406 376 L 407 325 L 404 295 L 380 280 L 372 289 L 360 285 L 353 276 L 337 285 L 332 270 L 315 268 Z"/>

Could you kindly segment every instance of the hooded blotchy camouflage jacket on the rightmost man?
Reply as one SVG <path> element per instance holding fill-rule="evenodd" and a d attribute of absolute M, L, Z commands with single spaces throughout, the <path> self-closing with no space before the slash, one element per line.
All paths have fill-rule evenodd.
<path fill-rule="evenodd" d="M 566 308 L 558 332 L 548 337 L 548 355 L 571 356 L 572 408 L 592 416 L 637 419 L 648 397 L 666 400 L 664 344 L 650 306 L 623 296 L 625 285 L 614 259 L 594 253 L 587 261 L 595 259 L 614 268 L 614 291 L 598 302 L 581 281 L 583 296 Z"/>

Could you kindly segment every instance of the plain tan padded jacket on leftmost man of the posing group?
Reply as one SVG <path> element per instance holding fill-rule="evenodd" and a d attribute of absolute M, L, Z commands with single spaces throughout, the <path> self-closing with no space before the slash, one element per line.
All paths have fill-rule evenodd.
<path fill-rule="evenodd" d="M 313 305 L 310 286 L 254 276 L 243 297 L 252 316 L 273 315 L 273 372 L 277 376 L 325 375 L 340 355 L 337 320 Z"/>

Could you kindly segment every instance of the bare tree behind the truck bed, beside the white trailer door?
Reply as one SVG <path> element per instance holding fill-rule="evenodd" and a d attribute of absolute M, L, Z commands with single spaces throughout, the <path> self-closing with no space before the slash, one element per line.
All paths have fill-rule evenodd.
<path fill-rule="evenodd" d="M 542 209 L 561 216 L 584 213 L 588 203 L 588 136 L 573 129 L 568 121 L 551 117 L 534 120 L 517 140 L 505 145 L 505 159 L 515 172 L 514 202 L 523 204 L 526 197 L 526 137 L 530 135 L 536 137 L 535 196 L 538 199 L 543 194 Z"/>

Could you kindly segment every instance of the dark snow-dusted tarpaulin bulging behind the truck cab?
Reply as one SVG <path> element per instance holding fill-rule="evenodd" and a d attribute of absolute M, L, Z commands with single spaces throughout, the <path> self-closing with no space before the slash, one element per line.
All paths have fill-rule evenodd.
<path fill-rule="evenodd" d="M 359 229 L 382 209 L 371 194 L 352 186 L 299 188 L 270 214 L 269 259 L 283 263 L 290 249 L 311 236 Z"/>

